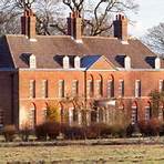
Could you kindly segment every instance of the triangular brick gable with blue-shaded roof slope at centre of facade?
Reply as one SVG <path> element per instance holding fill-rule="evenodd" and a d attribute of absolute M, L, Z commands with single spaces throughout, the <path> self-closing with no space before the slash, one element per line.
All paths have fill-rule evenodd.
<path fill-rule="evenodd" d="M 104 55 L 88 55 L 82 59 L 82 66 L 88 70 L 113 70 L 114 65 Z"/>

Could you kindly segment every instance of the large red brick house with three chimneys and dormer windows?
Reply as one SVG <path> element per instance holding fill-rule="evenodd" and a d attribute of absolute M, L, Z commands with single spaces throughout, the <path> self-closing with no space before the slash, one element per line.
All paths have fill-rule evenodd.
<path fill-rule="evenodd" d="M 0 37 L 1 125 L 29 122 L 33 127 L 54 103 L 61 121 L 66 112 L 70 124 L 110 123 L 113 109 L 124 111 L 133 124 L 151 117 L 148 94 L 164 89 L 163 59 L 127 35 L 123 16 L 113 22 L 113 38 L 82 35 L 81 21 L 74 12 L 68 35 L 37 35 L 35 16 L 27 10 L 22 34 Z M 74 98 L 79 107 L 70 101 Z M 163 120 L 162 106 L 158 114 Z"/>

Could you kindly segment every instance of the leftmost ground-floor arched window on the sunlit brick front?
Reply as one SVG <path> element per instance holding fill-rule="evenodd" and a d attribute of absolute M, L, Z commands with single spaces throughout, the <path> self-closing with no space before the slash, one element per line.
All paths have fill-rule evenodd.
<path fill-rule="evenodd" d="M 29 109 L 29 125 L 31 129 L 34 129 L 37 123 L 37 110 L 35 110 L 35 104 L 31 104 Z"/>

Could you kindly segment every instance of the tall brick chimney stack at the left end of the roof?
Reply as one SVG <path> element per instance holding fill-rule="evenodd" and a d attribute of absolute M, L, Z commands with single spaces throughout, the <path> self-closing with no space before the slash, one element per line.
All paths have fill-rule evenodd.
<path fill-rule="evenodd" d="M 25 9 L 21 17 L 21 33 L 29 39 L 35 39 L 35 14 L 31 9 Z"/>

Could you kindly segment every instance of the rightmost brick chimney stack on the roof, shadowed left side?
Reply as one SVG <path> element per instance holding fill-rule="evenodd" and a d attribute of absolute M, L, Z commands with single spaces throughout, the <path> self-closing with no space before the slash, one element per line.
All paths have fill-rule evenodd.
<path fill-rule="evenodd" d="M 114 37 L 122 41 L 127 41 L 127 19 L 122 14 L 117 14 L 113 25 Z"/>

